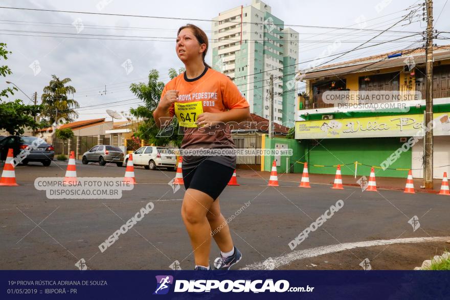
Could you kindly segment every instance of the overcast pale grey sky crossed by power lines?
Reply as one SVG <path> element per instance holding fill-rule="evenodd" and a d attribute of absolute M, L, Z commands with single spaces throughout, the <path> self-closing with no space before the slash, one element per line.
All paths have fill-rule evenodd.
<path fill-rule="evenodd" d="M 355 0 L 341 2 L 329 0 L 267 0 L 265 2 L 272 7 L 272 13 L 284 20 L 286 25 L 381 30 L 387 29 L 399 21 L 403 15 L 408 13 L 405 9 L 409 6 L 422 3 L 422 1 L 413 0 L 380 0 L 379 2 L 377 0 L 373 2 Z M 211 19 L 221 11 L 240 5 L 247 6 L 250 3 L 251 0 L 174 0 L 167 3 L 149 0 L 78 0 L 71 2 L 3 0 L 1 6 Z M 444 4 L 445 0 L 434 1 L 434 19 L 436 20 L 441 14 L 435 28 L 439 31 L 450 31 L 450 23 L 448 22 L 450 19 L 450 4 L 447 4 L 442 10 Z M 408 24 L 409 21 L 403 21 L 392 29 L 402 32 L 387 32 L 375 41 L 392 40 L 412 34 L 405 31 L 419 32 L 424 30 L 426 24 L 423 21 L 416 21 L 419 18 L 415 17 L 412 24 Z M 73 25 L 74 22 L 78 25 L 78 28 Z M 146 82 L 148 72 L 153 68 L 160 71 L 161 79 L 167 82 L 168 69 L 183 66 L 175 54 L 174 40 L 161 39 L 161 37 L 175 37 L 177 28 L 187 22 L 198 25 L 207 31 L 210 36 L 211 22 L 209 21 L 162 20 L 0 8 L 0 24 L 2 24 L 0 42 L 6 42 L 8 50 L 12 51 L 7 65 L 11 68 L 13 75 L 8 76 L 6 80 L 14 82 L 30 97 L 32 97 L 34 91 L 37 91 L 38 100 L 40 100 L 42 88 L 49 83 L 52 74 L 61 79 L 69 77 L 72 79 L 71 84 L 77 89 L 75 100 L 80 103 L 79 120 L 105 117 L 107 120 L 111 120 L 105 113 L 105 109 L 128 111 L 130 107 L 138 106 L 137 100 L 125 101 L 135 98 L 129 91 L 130 83 Z M 293 28 L 300 32 L 300 62 L 351 50 L 379 33 L 375 31 Z M 77 33 L 77 30 L 81 31 Z M 42 36 L 58 36 L 55 33 L 71 33 L 72 35 L 69 36 L 72 38 Z M 110 35 L 113 35 L 113 37 L 110 37 Z M 119 35 L 127 37 L 117 37 Z M 450 34 L 447 34 L 448 36 Z M 98 39 L 86 39 L 85 37 L 96 37 Z M 145 38 L 159 41 L 118 40 L 120 38 Z M 417 47 L 422 43 L 413 43 L 421 40 L 421 38 L 420 35 L 417 35 L 404 38 L 398 42 L 355 51 L 336 61 Z M 342 41 L 340 47 L 329 53 L 327 47 L 338 39 Z M 348 41 L 352 42 L 349 43 Z M 437 40 L 436 42 L 438 44 L 450 43 L 447 40 Z M 211 53 L 210 50 L 207 59 L 209 62 L 211 61 Z M 322 62 L 329 59 L 325 58 Z M 3 61 L 2 64 L 4 64 Z M 303 63 L 300 67 L 305 68 L 308 64 Z M 124 66 L 127 66 L 127 68 Z M 105 84 L 106 95 L 104 94 Z M 5 81 L 2 80 L 0 89 L 6 86 Z M 15 96 L 24 101 L 27 100 L 26 103 L 29 102 L 28 98 L 21 93 L 16 93 Z M 109 102 L 116 103 L 83 108 L 88 105 Z"/>

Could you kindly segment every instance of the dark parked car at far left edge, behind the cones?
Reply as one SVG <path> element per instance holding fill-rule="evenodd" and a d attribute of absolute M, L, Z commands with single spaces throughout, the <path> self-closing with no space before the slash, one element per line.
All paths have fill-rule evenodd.
<path fill-rule="evenodd" d="M 52 145 L 47 144 L 46 142 L 39 143 L 43 140 L 36 141 L 37 139 L 38 137 L 36 136 L 25 135 L 10 135 L 5 137 L 5 139 L 0 141 L 0 159 L 6 160 L 9 148 L 13 149 L 14 157 L 16 157 L 22 150 L 26 150 L 28 148 L 28 155 L 20 161 L 21 164 L 27 165 L 30 161 L 38 161 L 46 167 L 50 166 L 53 156 L 55 155 L 55 149 Z M 33 146 L 37 147 L 32 147 L 33 141 L 35 141 Z"/>

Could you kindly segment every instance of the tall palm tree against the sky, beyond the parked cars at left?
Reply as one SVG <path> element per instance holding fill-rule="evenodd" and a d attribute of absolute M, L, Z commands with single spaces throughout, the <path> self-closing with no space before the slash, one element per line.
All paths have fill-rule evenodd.
<path fill-rule="evenodd" d="M 79 104 L 74 99 L 69 99 L 69 94 L 76 92 L 75 87 L 67 85 L 72 81 L 70 78 L 60 80 L 56 75 L 52 75 L 52 80 L 48 86 L 43 88 L 42 94 L 42 114 L 44 118 L 48 118 L 50 124 L 53 124 L 59 118 L 64 118 L 67 122 L 73 122 L 78 118 L 75 111 Z"/>

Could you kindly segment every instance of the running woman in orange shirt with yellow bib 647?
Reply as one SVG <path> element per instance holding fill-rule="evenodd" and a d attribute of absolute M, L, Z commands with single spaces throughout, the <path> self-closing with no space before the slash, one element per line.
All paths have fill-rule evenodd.
<path fill-rule="evenodd" d="M 229 122 L 250 118 L 249 103 L 227 76 L 205 62 L 208 37 L 200 28 L 191 24 L 179 28 L 175 49 L 186 72 L 164 87 L 153 112 L 156 125 L 165 127 L 163 120 L 176 116 L 184 133 L 182 149 L 236 148 Z M 235 169 L 236 156 L 183 156 L 186 193 L 181 215 L 194 251 L 195 270 L 210 269 L 211 237 L 220 249 L 216 269 L 229 270 L 242 258 L 219 205 L 219 195 Z"/>

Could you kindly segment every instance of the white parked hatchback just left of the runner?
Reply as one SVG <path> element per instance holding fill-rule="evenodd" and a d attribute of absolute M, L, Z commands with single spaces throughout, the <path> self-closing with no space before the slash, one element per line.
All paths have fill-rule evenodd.
<path fill-rule="evenodd" d="M 124 164 L 128 163 L 129 154 L 125 155 Z M 144 146 L 133 152 L 133 165 L 143 166 L 147 170 L 167 168 L 176 171 L 176 155 L 164 147 Z"/>

